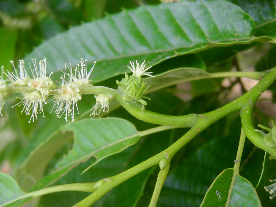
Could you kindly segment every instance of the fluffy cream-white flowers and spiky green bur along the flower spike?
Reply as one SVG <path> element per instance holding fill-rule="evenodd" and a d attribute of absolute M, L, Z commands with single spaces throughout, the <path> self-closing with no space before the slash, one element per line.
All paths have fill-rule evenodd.
<path fill-rule="evenodd" d="M 80 64 L 77 64 L 75 69 L 72 69 L 71 63 L 64 65 L 63 75 L 61 76 L 60 86 L 52 81 L 51 75 L 47 76 L 46 73 L 46 58 L 36 63 L 36 59 L 32 59 L 33 63 L 30 64 L 31 77 L 29 76 L 24 60 L 19 60 L 19 72 L 17 71 L 14 62 L 10 61 L 13 65 L 14 72 L 4 71 L 2 67 L 2 74 L 7 76 L 7 80 L 4 80 L 3 75 L 0 76 L 0 115 L 2 116 L 2 108 L 5 104 L 5 99 L 10 93 L 20 92 L 23 95 L 21 99 L 14 106 L 23 106 L 21 113 L 25 113 L 30 116 L 29 122 L 34 122 L 38 118 L 38 114 L 44 111 L 43 106 L 48 102 L 53 101 L 53 107 L 57 117 L 65 116 L 65 120 L 68 121 L 68 117 L 74 121 L 75 110 L 79 114 L 79 108 L 77 102 L 82 99 L 82 89 L 93 86 L 90 84 L 90 75 L 94 69 L 95 63 L 90 70 L 87 70 L 87 60 L 81 59 Z M 151 75 L 152 72 L 147 72 L 151 67 L 145 68 L 145 61 L 139 65 L 136 60 L 136 66 L 134 62 L 130 62 L 131 67 L 128 68 L 132 71 L 132 75 L 125 74 L 125 78 L 121 82 L 116 81 L 119 92 L 123 95 L 123 98 L 128 101 L 140 102 L 143 105 L 147 105 L 142 98 L 143 94 L 150 86 L 146 86 L 145 82 L 141 78 L 142 75 L 155 77 Z M 10 82 L 7 84 L 6 82 Z M 50 95 L 53 95 L 49 98 Z M 95 116 L 103 112 L 109 111 L 109 103 L 113 99 L 113 95 L 110 94 L 94 94 L 96 98 L 96 104 L 92 108 L 92 113 Z M 149 98 L 148 98 L 149 99 Z M 12 107 L 14 107 L 12 106 Z M 50 112 L 50 113 L 51 113 Z"/>

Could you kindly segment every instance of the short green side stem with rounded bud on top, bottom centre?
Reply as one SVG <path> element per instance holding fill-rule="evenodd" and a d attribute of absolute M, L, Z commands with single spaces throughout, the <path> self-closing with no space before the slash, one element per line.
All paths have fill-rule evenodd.
<path fill-rule="evenodd" d="M 167 178 L 167 174 L 168 174 L 169 169 L 170 169 L 170 162 L 165 158 L 163 158 L 163 159 L 166 160 L 167 165 L 165 167 L 163 167 L 158 173 L 155 188 L 153 190 L 151 201 L 150 201 L 150 204 L 148 205 L 148 207 L 155 207 L 156 206 L 158 198 L 159 198 L 159 194 L 160 194 L 161 189 L 162 189 L 162 186 L 163 186 L 163 184 L 164 184 L 164 182 Z M 163 161 L 163 160 L 160 160 L 160 162 L 161 161 Z M 160 165 L 160 162 L 159 162 L 159 165 Z"/>

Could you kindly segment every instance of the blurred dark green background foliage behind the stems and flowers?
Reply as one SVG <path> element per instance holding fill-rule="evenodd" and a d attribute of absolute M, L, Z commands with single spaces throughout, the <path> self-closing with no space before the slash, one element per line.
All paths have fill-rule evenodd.
<path fill-rule="evenodd" d="M 247 1 L 230 2 L 239 5 L 254 19 L 256 25 L 275 18 L 275 7 L 273 6 L 270 8 L 274 8 L 274 11 L 271 9 L 270 13 L 258 16 L 255 15 L 254 10 L 249 9 L 250 5 L 248 6 Z M 268 3 L 263 4 L 266 6 L 275 4 L 273 1 L 253 1 L 251 8 L 257 10 L 263 2 Z M 5 65 L 5 69 L 11 69 L 10 60 L 17 62 L 45 40 L 76 25 L 102 18 L 108 14 L 118 13 L 121 10 L 134 9 L 141 4 L 159 3 L 158 0 L 1 0 L 0 64 Z M 258 32 L 262 34 L 262 31 L 256 31 L 256 34 Z M 75 49 L 77 50 L 77 48 Z M 213 54 L 213 56 L 210 57 L 209 54 Z M 275 44 L 266 42 L 210 48 L 197 53 L 197 56 L 204 61 L 200 67 L 206 67 L 205 69 L 208 72 L 268 70 L 276 65 L 275 55 Z M 165 60 L 162 63 L 162 68 L 167 71 L 171 69 L 172 64 L 172 68 L 181 67 L 184 64 L 183 62 L 186 61 L 185 58 L 186 56 L 178 56 Z M 159 64 L 153 66 L 152 70 L 154 71 L 154 68 L 159 66 Z M 115 79 L 121 79 L 121 76 L 97 84 L 116 88 Z M 147 96 L 152 101 L 149 102 L 147 109 L 158 113 L 165 112 L 168 115 L 205 113 L 217 109 L 242 95 L 255 83 L 256 81 L 246 78 L 220 78 L 184 82 L 148 94 Z M 274 83 L 270 90 L 256 103 L 253 117 L 255 125 L 260 123 L 272 126 L 271 119 L 276 118 L 275 91 Z M 0 136 L 2 139 L 0 143 L 0 171 L 16 177 L 17 167 L 29 156 L 30 151 L 46 140 L 52 132 L 59 129 L 64 124 L 64 120 L 56 119 L 55 115 L 46 114 L 48 118 L 40 119 L 35 124 L 29 124 L 29 118 L 20 114 L 21 109 L 11 109 L 15 97 L 15 95 L 12 96 L 5 104 L 6 113 L 9 114 L 8 120 L 4 117 L 0 121 Z M 91 95 L 86 96 L 86 98 L 83 97 L 81 106 L 87 110 L 92 108 L 94 105 L 94 102 L 91 101 L 92 98 Z M 108 116 L 131 120 L 138 130 L 153 126 L 131 117 L 122 108 L 117 108 Z M 87 117 L 87 114 L 81 118 L 84 117 Z M 164 207 L 200 205 L 205 192 L 217 175 L 225 168 L 233 166 L 240 127 L 239 114 L 237 112 L 231 113 L 208 127 L 183 147 L 172 160 L 171 170 L 161 191 L 158 205 Z M 113 175 L 113 173 L 119 173 L 167 148 L 182 136 L 185 130 L 175 129 L 170 132 L 143 137 L 139 144 L 129 147 L 123 154 L 119 153 L 106 158 L 82 176 L 79 174 L 87 165 L 89 166 L 89 163 L 80 164 L 66 176 L 59 179 L 56 184 L 94 182 L 101 179 L 103 174 L 107 177 Z M 73 140 L 56 153 L 45 174 L 55 168 L 58 160 L 72 147 L 72 143 Z M 156 148 L 154 150 L 148 149 L 149 146 L 156 146 Z M 254 187 L 257 185 L 262 171 L 263 156 L 264 151 L 256 148 L 248 140 L 246 141 L 243 151 L 245 161 L 241 165 L 240 174 L 247 178 Z M 209 163 L 204 162 L 206 157 Z M 116 162 L 119 159 L 121 159 L 121 163 L 118 164 Z M 105 166 L 113 169 L 113 171 Z M 112 190 L 100 199 L 95 206 L 107 206 L 110 202 L 114 202 L 114 206 L 146 206 L 149 203 L 157 174 L 158 171 L 152 168 L 139 175 L 140 178 L 137 179 L 140 179 L 143 185 L 140 186 L 133 198 L 129 198 L 123 204 L 120 203 L 120 199 L 116 200 L 116 197 L 128 197 L 128 192 L 136 190 L 133 184 L 137 182 L 137 180 L 134 180 L 136 178 L 132 178 L 128 183 L 126 182 L 118 187 L 123 190 L 119 191 L 118 188 Z M 93 180 L 91 180 L 91 177 L 93 177 Z M 178 196 L 179 192 L 182 196 Z M 87 195 L 87 193 L 81 192 L 50 194 L 41 198 L 40 206 L 53 206 L 53 203 L 56 206 L 69 206 Z M 52 203 L 50 204 L 48 201 L 52 201 Z M 275 201 L 270 202 L 270 205 L 267 206 L 275 206 L 274 204 L 276 205 Z"/>

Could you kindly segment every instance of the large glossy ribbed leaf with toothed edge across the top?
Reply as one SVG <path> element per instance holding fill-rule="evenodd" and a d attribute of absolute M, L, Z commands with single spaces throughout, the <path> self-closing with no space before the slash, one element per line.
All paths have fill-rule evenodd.
<path fill-rule="evenodd" d="M 83 57 L 88 67 L 97 61 L 92 79 L 99 82 L 130 72 L 129 60 L 146 59 L 148 65 L 155 65 L 215 46 L 270 40 L 252 37 L 253 27 L 251 17 L 226 1 L 140 6 L 73 27 L 34 49 L 25 62 L 46 57 L 48 72 L 60 77 L 59 67 L 65 62 L 75 65 Z"/>

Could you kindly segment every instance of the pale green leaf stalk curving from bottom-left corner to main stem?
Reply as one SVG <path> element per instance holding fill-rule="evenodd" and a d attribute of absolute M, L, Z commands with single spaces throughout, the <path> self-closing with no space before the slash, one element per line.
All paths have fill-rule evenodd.
<path fill-rule="evenodd" d="M 91 183 L 73 183 L 73 184 L 66 184 L 66 185 L 59 185 L 59 186 L 52 186 L 48 188 L 44 188 L 41 190 L 36 190 L 30 193 L 26 193 L 23 196 L 17 197 L 9 202 L 6 202 L 1 206 L 8 205 L 10 203 L 13 203 L 14 201 L 21 200 L 23 198 L 29 198 L 29 197 L 37 197 L 49 193 L 56 193 L 56 192 L 61 192 L 61 191 L 81 191 L 81 192 L 93 192 L 97 189 L 94 189 L 94 182 Z"/>

